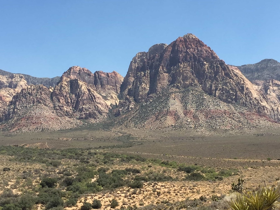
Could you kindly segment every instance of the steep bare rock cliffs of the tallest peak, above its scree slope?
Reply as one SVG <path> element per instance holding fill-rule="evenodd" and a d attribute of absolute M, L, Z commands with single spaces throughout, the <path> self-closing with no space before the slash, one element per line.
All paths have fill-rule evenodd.
<path fill-rule="evenodd" d="M 225 64 L 196 36 L 137 53 L 121 87 L 122 94 L 143 102 L 167 87 L 198 88 L 228 104 L 240 104 L 276 120 L 278 115 L 235 67 Z"/>

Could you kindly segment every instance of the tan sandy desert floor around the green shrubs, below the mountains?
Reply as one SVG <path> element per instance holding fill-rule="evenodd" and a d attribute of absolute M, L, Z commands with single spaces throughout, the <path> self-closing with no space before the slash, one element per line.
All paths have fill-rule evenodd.
<path fill-rule="evenodd" d="M 49 150 L 60 151 L 69 148 L 77 148 L 81 150 L 81 153 L 88 151 L 87 154 L 89 154 L 91 151 L 91 153 L 103 154 L 103 156 L 106 156 L 105 153 L 120 154 L 125 156 L 111 158 L 111 162 L 104 161 L 102 164 L 95 155 L 93 158 L 88 158 L 88 162 L 84 162 L 84 165 L 92 164 L 91 167 L 96 169 L 104 166 L 108 168 L 108 171 L 139 169 L 137 175 L 139 177 L 150 177 L 152 174 L 156 174 L 156 176 L 164 174 L 169 177 L 162 180 L 145 181 L 142 188 L 120 186 L 112 190 L 81 193 L 76 205 L 65 207 L 69 210 L 80 209 L 84 201 L 92 203 L 93 199 L 99 199 L 102 208 L 110 208 L 110 201 L 116 199 L 119 203 L 117 208 L 121 206 L 127 208 L 136 204 L 141 208 L 160 209 L 165 208 L 164 205 L 168 204 L 170 207 L 172 203 L 175 209 L 181 209 L 184 208 L 184 205 L 192 206 L 190 202 L 193 202 L 193 199 L 199 200 L 198 198 L 201 196 L 205 196 L 207 202 L 212 204 L 215 203 L 213 196 L 222 196 L 225 199 L 225 195 L 231 190 L 232 183 L 236 183 L 239 177 L 245 181 L 243 187 L 246 190 L 278 185 L 280 178 L 280 130 L 188 135 L 182 130 L 164 132 L 126 129 L 124 132 L 122 129 L 110 131 L 72 129 L 26 134 L 2 133 L 0 168 L 9 167 L 10 171 L 1 170 L 0 172 L 2 181 L 0 192 L 3 192 L 5 188 L 12 189 L 14 193 L 22 193 L 25 188 L 35 189 L 42 179 L 41 176 L 60 179 L 63 171 L 67 171 L 66 169 L 74 171 L 75 167 L 83 165 L 69 157 L 61 157 L 58 165 L 40 161 L 20 161 L 17 160 L 17 154 L 11 155 L 6 152 L 8 149 L 5 148 L 11 148 L 7 147 L 8 145 L 12 148 L 38 150 L 38 154 L 41 153 L 40 151 L 45 153 Z M 137 158 L 132 158 L 132 161 L 120 161 L 129 155 L 132 155 L 133 158 L 135 155 L 143 157 L 144 160 L 139 161 Z M 18 157 L 22 158 L 20 155 Z M 50 159 L 54 158 L 50 157 Z M 180 164 L 211 169 L 217 172 L 216 175 L 222 175 L 223 178 L 219 181 L 216 179 L 188 180 L 186 173 L 178 170 Z M 32 177 L 32 183 L 29 185 L 25 183 L 26 179 L 20 178 L 27 172 L 31 173 Z M 204 175 L 207 176 L 207 173 L 204 172 Z M 132 175 L 134 177 L 135 174 Z M 96 181 L 96 177 L 98 176 L 95 176 L 92 182 Z M 132 178 L 128 175 L 125 177 L 125 179 Z M 65 187 L 62 189 L 65 190 Z M 160 196 L 157 195 L 157 192 L 160 192 Z M 40 206 L 41 204 L 38 205 L 38 209 L 41 208 Z M 216 206 L 216 208 L 221 207 Z"/>

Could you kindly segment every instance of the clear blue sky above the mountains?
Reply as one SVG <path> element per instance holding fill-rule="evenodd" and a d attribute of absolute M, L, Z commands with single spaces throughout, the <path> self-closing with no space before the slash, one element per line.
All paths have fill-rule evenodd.
<path fill-rule="evenodd" d="M 136 53 L 195 34 L 227 64 L 280 62 L 279 0 L 0 0 L 0 69 L 125 76 Z"/>

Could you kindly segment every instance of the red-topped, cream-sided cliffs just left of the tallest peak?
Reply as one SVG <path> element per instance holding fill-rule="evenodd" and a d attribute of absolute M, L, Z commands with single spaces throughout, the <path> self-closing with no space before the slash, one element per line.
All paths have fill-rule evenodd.
<path fill-rule="evenodd" d="M 116 72 L 92 74 L 88 69 L 71 67 L 60 78 L 51 98 L 61 115 L 104 118 L 111 106 L 119 102 L 117 95 L 122 79 Z"/>

